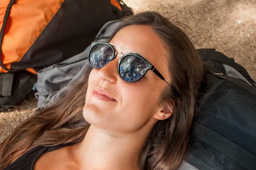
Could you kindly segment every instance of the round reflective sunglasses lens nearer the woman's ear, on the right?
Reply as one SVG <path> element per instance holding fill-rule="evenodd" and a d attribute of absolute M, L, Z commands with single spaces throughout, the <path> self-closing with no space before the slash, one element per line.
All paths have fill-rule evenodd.
<path fill-rule="evenodd" d="M 139 57 L 128 55 L 120 63 L 120 75 L 125 81 L 137 81 L 146 71 L 146 63 Z"/>

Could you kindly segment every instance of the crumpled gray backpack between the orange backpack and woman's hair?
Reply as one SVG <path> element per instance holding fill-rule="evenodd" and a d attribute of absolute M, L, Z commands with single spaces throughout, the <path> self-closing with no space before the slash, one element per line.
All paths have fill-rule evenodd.
<path fill-rule="evenodd" d="M 117 20 L 105 23 L 96 35 L 95 41 L 106 42 L 118 25 Z M 35 97 L 38 99 L 39 108 L 49 107 L 67 92 L 69 85 L 81 81 L 79 78 L 89 67 L 87 62 L 89 50 L 90 46 L 80 54 L 61 63 L 45 67 L 38 72 Z"/>

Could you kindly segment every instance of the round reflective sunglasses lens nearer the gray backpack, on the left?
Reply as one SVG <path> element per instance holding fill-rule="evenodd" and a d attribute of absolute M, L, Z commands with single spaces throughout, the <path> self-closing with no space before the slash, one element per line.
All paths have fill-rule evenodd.
<path fill-rule="evenodd" d="M 113 49 L 106 44 L 95 44 L 90 50 L 88 60 L 93 67 L 105 66 L 113 57 Z"/>

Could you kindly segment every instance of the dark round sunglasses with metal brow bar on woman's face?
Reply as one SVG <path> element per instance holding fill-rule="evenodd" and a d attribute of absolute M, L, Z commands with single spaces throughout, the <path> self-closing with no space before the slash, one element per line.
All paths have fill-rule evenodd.
<path fill-rule="evenodd" d="M 161 75 L 160 72 L 158 72 L 157 69 L 141 55 L 118 46 L 119 48 L 132 52 L 123 55 L 122 52 L 115 52 L 111 45 L 118 46 L 113 43 L 92 42 L 88 54 L 89 65 L 95 69 L 100 69 L 116 58 L 116 54 L 119 53 L 122 56 L 119 58 L 117 69 L 122 80 L 132 83 L 143 78 L 148 70 L 152 70 L 159 78 L 166 82 L 163 75 Z M 175 88 L 173 89 L 175 90 Z"/>

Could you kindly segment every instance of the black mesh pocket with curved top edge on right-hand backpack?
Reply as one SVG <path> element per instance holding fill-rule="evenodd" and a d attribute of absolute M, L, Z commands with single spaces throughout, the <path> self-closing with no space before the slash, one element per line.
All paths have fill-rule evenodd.
<path fill-rule="evenodd" d="M 240 86 L 221 84 L 198 112 L 197 122 L 256 156 L 256 96 Z"/>

